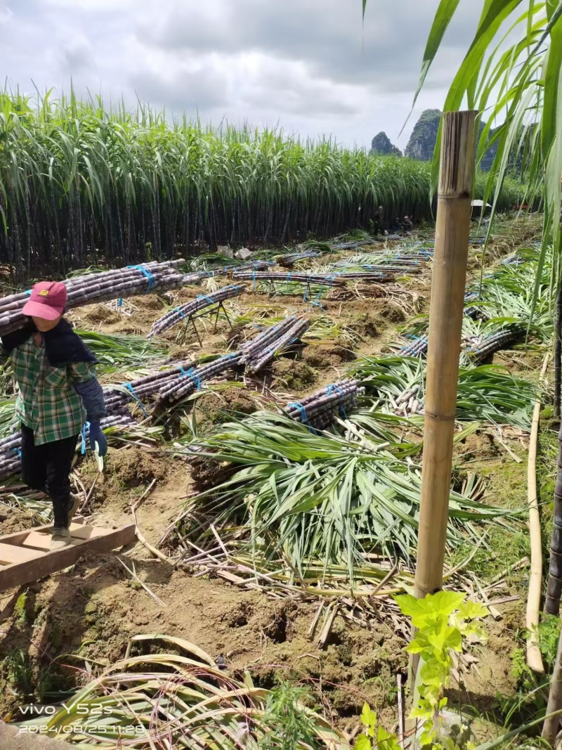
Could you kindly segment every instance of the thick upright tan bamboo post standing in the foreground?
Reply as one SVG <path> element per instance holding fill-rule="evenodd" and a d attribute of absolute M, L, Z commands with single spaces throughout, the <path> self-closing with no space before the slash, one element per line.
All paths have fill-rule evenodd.
<path fill-rule="evenodd" d="M 476 115 L 475 112 L 447 112 L 442 122 L 417 544 L 418 598 L 443 586 L 471 224 Z"/>

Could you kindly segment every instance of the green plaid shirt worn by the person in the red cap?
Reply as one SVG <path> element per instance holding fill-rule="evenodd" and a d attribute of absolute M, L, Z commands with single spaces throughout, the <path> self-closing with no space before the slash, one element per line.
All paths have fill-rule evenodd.
<path fill-rule="evenodd" d="M 95 365 L 72 362 L 53 368 L 49 365 L 43 338 L 37 346 L 34 335 L 16 347 L 10 359 L 19 386 L 16 416 L 33 430 L 35 445 L 78 435 L 86 412 L 72 386 L 96 377 Z"/>

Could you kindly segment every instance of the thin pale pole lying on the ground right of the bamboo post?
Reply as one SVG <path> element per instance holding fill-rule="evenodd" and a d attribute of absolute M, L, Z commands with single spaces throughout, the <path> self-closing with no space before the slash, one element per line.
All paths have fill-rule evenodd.
<path fill-rule="evenodd" d="M 549 355 L 543 362 L 540 372 L 542 381 L 549 366 Z M 531 574 L 527 594 L 527 664 L 537 674 L 544 674 L 543 655 L 540 652 L 537 637 L 539 625 L 540 592 L 543 578 L 543 545 L 540 538 L 540 515 L 537 497 L 537 443 L 539 439 L 540 395 L 535 401 L 533 422 L 531 424 L 531 440 L 529 443 L 529 458 L 527 464 L 527 493 L 529 504 L 529 532 L 531 533 Z"/>

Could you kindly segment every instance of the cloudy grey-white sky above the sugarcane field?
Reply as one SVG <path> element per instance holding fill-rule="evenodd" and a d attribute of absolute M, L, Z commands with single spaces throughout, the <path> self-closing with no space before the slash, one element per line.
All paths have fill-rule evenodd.
<path fill-rule="evenodd" d="M 438 0 L 0 0 L 0 71 L 24 92 L 70 80 L 84 96 L 218 124 L 280 124 L 402 147 L 417 115 L 441 107 L 481 3 L 456 22 L 399 139 Z"/>

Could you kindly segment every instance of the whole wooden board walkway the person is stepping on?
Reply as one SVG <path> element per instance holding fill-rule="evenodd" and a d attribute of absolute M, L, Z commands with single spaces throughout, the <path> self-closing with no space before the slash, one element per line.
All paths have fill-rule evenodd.
<path fill-rule="evenodd" d="M 70 524 L 71 542 L 61 550 L 49 550 L 52 526 L 36 526 L 0 536 L 0 591 L 31 583 L 73 565 L 86 551 L 110 552 L 136 540 L 135 524 L 120 529 L 85 526 L 81 518 Z"/>

